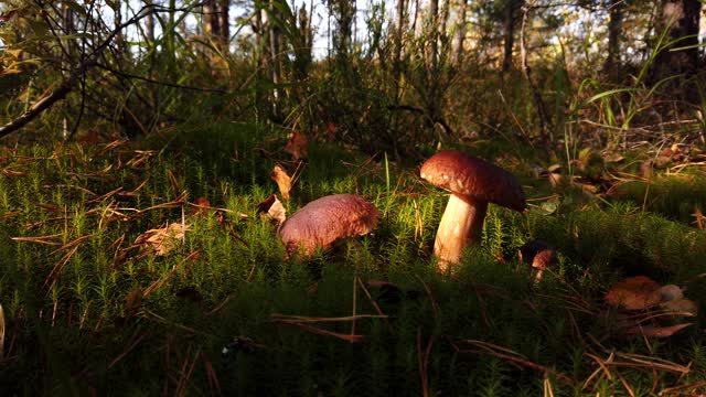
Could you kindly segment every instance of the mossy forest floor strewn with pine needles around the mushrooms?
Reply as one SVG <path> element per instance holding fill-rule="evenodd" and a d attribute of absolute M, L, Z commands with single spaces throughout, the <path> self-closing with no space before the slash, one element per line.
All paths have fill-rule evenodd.
<path fill-rule="evenodd" d="M 257 129 L 0 149 L 3 395 L 706 393 L 696 148 L 548 169 L 513 146 L 459 148 L 516 175 L 528 210 L 491 205 L 447 275 L 431 249 L 448 192 L 419 164 L 317 142 L 296 161 L 303 146 Z M 291 215 L 338 193 L 374 204 L 377 228 L 286 260 L 260 204 L 277 194 Z M 556 249 L 538 281 L 518 257 L 536 240 Z M 621 282 L 685 298 L 616 308 Z"/>

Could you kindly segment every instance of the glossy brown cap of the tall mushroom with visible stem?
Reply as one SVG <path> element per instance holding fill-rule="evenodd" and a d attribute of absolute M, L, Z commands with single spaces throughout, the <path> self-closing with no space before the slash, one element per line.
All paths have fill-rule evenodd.
<path fill-rule="evenodd" d="M 422 165 L 421 178 L 473 201 L 490 202 L 522 212 L 525 194 L 510 172 L 477 157 L 454 151 L 441 151 Z"/>

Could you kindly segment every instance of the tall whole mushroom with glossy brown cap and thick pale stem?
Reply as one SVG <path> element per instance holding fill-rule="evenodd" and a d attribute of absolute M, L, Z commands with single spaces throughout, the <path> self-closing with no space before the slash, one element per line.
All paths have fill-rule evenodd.
<path fill-rule="evenodd" d="M 459 261 L 467 245 L 480 243 L 489 202 L 518 212 L 526 207 L 513 174 L 467 153 L 438 152 L 421 165 L 420 175 L 451 191 L 434 243 L 442 271 Z"/>

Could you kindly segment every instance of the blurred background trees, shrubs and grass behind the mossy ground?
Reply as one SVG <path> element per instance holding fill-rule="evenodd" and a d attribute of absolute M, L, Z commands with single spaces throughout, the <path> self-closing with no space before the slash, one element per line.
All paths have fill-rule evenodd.
<path fill-rule="evenodd" d="M 700 14 L 698 0 L 10 0 L 0 122 L 51 106 L 0 136 L 261 122 L 396 160 L 485 138 L 546 161 L 703 143 Z"/>

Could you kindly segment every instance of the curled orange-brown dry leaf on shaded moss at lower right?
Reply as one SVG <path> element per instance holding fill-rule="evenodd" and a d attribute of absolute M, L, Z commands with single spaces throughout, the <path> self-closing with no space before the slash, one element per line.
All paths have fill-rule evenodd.
<path fill-rule="evenodd" d="M 660 285 L 646 276 L 629 277 L 606 293 L 606 303 L 627 310 L 654 308 L 662 301 Z"/>

